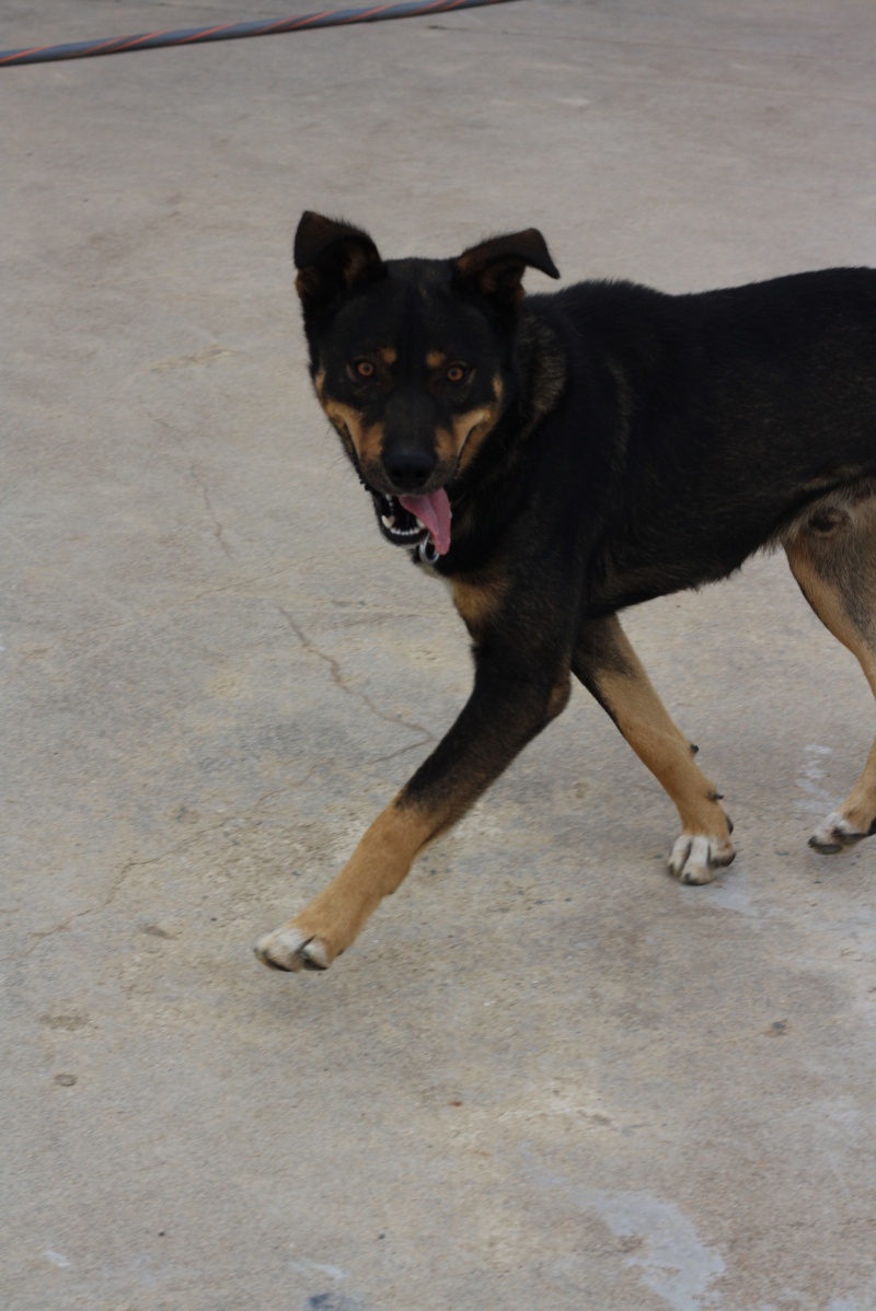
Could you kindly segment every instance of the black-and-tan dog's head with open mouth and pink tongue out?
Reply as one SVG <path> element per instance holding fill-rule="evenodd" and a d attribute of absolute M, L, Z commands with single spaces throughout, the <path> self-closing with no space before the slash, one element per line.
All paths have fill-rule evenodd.
<path fill-rule="evenodd" d="M 367 232 L 307 212 L 295 265 L 316 395 L 384 536 L 443 555 L 448 489 L 508 401 L 523 271 L 559 278 L 544 239 L 530 228 L 456 260 L 383 261 Z"/>

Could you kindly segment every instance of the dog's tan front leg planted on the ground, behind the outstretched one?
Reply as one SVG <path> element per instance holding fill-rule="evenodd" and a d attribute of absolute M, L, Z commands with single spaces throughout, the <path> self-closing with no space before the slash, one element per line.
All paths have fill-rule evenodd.
<path fill-rule="evenodd" d="M 669 717 L 616 615 L 582 624 L 572 669 L 675 804 L 682 834 L 670 872 L 683 884 L 711 882 L 736 855 L 730 823 L 715 785 L 694 763 L 696 749 Z"/>

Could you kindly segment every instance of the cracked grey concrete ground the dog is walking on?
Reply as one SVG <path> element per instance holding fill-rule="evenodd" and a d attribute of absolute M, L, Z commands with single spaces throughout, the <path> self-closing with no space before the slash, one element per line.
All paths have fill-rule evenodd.
<path fill-rule="evenodd" d="M 0 45 L 290 8 L 4 0 Z M 716 884 L 578 692 L 332 971 L 250 952 L 469 686 L 309 396 L 302 208 L 670 291 L 876 264 L 875 43 L 519 0 L 0 72 L 4 1308 L 876 1308 L 876 852 L 806 848 L 876 716 L 783 558 L 629 616 Z"/>

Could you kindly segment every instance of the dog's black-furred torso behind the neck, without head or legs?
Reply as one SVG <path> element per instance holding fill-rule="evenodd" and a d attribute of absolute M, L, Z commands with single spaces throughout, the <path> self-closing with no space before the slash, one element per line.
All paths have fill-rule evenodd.
<path fill-rule="evenodd" d="M 536 459 L 552 506 L 580 509 L 599 606 L 720 578 L 876 475 L 876 271 L 686 296 L 580 283 L 525 312 L 570 361 Z"/>

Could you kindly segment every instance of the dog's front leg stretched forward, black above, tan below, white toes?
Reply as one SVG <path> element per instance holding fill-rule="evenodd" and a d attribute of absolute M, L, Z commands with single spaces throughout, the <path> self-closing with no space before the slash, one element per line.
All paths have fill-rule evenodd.
<path fill-rule="evenodd" d="M 475 659 L 475 688 L 454 726 L 367 829 L 334 881 L 291 923 L 258 940 L 256 954 L 265 965 L 327 969 L 401 884 L 418 852 L 468 810 L 569 697 L 568 657 L 546 662 L 539 654 L 525 669 L 483 650 Z"/>

